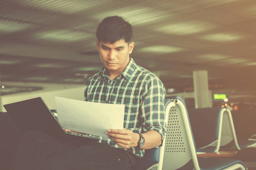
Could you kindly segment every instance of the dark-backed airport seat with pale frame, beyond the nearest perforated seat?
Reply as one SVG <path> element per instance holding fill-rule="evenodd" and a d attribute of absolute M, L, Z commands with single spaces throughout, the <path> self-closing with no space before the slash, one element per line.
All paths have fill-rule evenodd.
<path fill-rule="evenodd" d="M 197 152 L 240 150 L 228 108 L 188 109 L 188 114 Z"/>

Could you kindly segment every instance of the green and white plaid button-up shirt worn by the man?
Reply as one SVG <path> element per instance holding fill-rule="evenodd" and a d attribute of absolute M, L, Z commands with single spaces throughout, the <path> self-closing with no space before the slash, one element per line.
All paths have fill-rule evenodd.
<path fill-rule="evenodd" d="M 84 99 L 96 103 L 125 104 L 123 128 L 135 133 L 156 130 L 163 138 L 166 133 L 164 95 L 163 83 L 130 58 L 129 65 L 113 80 L 105 67 L 90 77 L 85 86 Z M 121 148 L 108 138 L 101 137 L 100 142 Z M 144 150 L 137 147 L 130 147 L 127 151 L 139 157 L 144 155 Z"/>

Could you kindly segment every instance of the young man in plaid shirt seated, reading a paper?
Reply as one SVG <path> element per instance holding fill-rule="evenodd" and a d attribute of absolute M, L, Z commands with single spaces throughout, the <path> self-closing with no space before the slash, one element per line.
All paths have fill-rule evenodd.
<path fill-rule="evenodd" d="M 123 129 L 109 129 L 108 138 L 101 137 L 97 143 L 26 132 L 14 169 L 132 169 L 144 150 L 162 144 L 164 86 L 130 58 L 134 48 L 130 23 L 110 16 L 98 25 L 96 36 L 104 67 L 88 79 L 85 101 L 125 104 Z"/>

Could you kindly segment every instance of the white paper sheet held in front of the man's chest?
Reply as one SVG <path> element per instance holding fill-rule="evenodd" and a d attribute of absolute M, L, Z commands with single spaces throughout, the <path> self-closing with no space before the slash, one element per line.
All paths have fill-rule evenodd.
<path fill-rule="evenodd" d="M 55 97 L 62 128 L 108 137 L 108 129 L 123 129 L 125 105 L 92 103 Z"/>

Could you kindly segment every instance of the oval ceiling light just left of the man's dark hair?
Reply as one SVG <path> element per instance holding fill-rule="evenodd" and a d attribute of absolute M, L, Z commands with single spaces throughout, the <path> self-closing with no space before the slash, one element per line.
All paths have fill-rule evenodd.
<path fill-rule="evenodd" d="M 68 29 L 58 31 L 48 31 L 37 33 L 38 39 L 49 39 L 55 41 L 79 41 L 87 39 L 91 35 L 86 35 L 84 32 L 71 31 Z"/>

